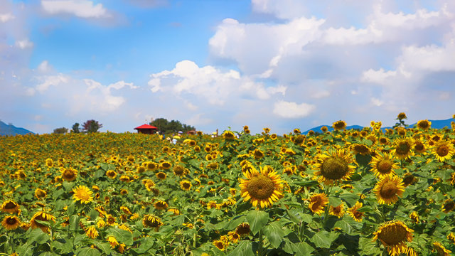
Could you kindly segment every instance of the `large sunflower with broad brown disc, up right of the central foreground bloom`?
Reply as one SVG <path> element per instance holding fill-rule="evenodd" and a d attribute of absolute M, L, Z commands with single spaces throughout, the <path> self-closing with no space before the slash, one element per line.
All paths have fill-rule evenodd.
<path fill-rule="evenodd" d="M 323 182 L 328 185 L 336 181 L 348 180 L 355 168 L 349 165 L 352 162 L 353 157 L 345 153 L 343 149 L 337 149 L 332 153 L 318 154 L 315 167 L 319 171 L 314 173 L 315 178 L 319 179 L 320 183 Z"/>

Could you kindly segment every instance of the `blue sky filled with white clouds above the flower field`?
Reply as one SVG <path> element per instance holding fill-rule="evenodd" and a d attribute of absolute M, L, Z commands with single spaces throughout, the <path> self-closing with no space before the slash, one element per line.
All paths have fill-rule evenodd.
<path fill-rule="evenodd" d="M 455 114 L 453 0 L 0 0 L 0 119 L 284 134 Z"/>

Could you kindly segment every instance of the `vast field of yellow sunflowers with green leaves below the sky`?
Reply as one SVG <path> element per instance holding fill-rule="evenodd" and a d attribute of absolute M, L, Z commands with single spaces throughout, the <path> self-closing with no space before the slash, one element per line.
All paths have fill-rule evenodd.
<path fill-rule="evenodd" d="M 455 125 L 381 125 L 0 137 L 0 255 L 452 255 Z"/>

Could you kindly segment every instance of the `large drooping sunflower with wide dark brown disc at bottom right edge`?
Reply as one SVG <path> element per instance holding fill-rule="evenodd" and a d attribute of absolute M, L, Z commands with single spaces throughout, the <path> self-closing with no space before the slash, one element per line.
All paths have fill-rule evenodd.
<path fill-rule="evenodd" d="M 382 224 L 378 231 L 373 233 L 373 240 L 379 239 L 390 255 L 400 255 L 407 252 L 406 242 L 412 242 L 412 232 L 414 230 L 407 228 L 402 221 L 393 220 Z"/>

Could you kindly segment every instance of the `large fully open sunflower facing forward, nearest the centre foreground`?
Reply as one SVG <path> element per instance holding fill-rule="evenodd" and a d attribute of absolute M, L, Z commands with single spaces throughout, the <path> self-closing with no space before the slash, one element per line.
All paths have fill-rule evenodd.
<path fill-rule="evenodd" d="M 260 172 L 253 167 L 243 175 L 246 179 L 240 178 L 240 195 L 244 201 L 251 200 L 256 208 L 265 208 L 282 198 L 283 181 L 269 166 L 261 167 Z"/>

